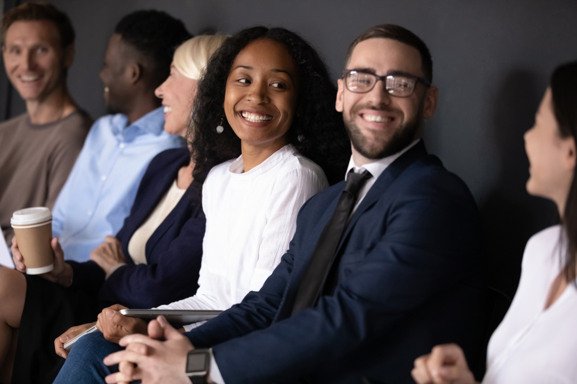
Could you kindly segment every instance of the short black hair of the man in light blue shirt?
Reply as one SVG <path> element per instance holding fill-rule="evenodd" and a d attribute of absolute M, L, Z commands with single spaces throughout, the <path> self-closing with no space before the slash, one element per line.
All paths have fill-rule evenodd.
<path fill-rule="evenodd" d="M 158 85 L 170 74 L 174 50 L 193 37 L 182 21 L 154 9 L 127 14 L 118 22 L 114 32 L 151 61 L 151 77 Z"/>

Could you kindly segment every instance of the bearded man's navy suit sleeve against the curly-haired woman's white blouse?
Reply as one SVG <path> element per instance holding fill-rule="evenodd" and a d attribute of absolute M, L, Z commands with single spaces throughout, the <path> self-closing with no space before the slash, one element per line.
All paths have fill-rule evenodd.
<path fill-rule="evenodd" d="M 302 212 L 313 199 L 314 197 L 306 201 L 299 210 L 297 228 L 306 223 L 307 219 Z M 218 317 L 185 333 L 192 344 L 198 348 L 211 347 L 271 325 L 282 302 L 284 291 L 288 287 L 288 280 L 293 270 L 293 254 L 300 242 L 297 230 L 288 246 L 287 253 L 280 259 L 279 265 L 258 292 L 249 292 L 241 303 L 235 304 Z"/>

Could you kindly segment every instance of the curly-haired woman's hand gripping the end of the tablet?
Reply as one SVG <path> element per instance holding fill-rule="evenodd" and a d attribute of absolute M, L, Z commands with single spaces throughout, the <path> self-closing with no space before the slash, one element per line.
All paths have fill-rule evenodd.
<path fill-rule="evenodd" d="M 102 332 L 104 338 L 118 344 L 122 337 L 133 333 L 147 334 L 147 323 L 143 319 L 128 317 L 119 311 L 128 309 L 120 304 L 114 304 L 104 308 L 98 314 L 96 327 Z"/>

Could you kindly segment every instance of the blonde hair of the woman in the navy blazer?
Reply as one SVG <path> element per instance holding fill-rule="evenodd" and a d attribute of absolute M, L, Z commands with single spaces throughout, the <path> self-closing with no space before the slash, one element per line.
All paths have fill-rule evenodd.
<path fill-rule="evenodd" d="M 186 40 L 174 51 L 174 66 L 184 76 L 198 80 L 204 67 L 207 66 L 208 59 L 227 37 L 200 35 Z"/>

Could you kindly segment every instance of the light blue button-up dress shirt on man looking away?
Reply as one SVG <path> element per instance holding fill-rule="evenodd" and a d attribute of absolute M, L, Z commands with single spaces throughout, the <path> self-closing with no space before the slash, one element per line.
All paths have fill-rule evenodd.
<path fill-rule="evenodd" d="M 116 235 L 136 197 L 148 163 L 159 152 L 184 146 L 164 131 L 162 108 L 128 125 L 106 115 L 88 133 L 53 209 L 52 231 L 67 260 L 87 261 L 106 235 Z"/>

